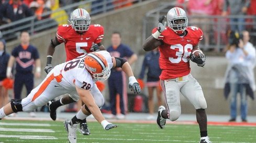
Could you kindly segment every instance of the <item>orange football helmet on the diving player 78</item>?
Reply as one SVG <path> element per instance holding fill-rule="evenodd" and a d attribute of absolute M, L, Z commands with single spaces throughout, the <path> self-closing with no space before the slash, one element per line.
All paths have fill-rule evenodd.
<path fill-rule="evenodd" d="M 110 69 L 107 60 L 99 53 L 89 53 L 84 58 L 85 68 L 97 81 L 105 81 L 110 76 Z"/>

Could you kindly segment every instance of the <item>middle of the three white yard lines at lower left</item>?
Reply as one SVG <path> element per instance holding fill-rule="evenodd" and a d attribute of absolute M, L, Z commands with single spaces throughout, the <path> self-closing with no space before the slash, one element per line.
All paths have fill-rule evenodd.
<path fill-rule="evenodd" d="M 42 128 L 4 128 L 0 127 L 0 131 L 3 132 L 40 132 L 40 133 L 55 133 L 52 129 L 42 129 Z"/>

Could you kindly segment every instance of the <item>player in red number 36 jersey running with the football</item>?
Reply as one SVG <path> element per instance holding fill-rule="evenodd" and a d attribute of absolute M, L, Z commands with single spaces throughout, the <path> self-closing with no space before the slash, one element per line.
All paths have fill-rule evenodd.
<path fill-rule="evenodd" d="M 160 51 L 160 81 L 167 109 L 164 106 L 159 107 L 157 124 L 163 128 L 166 119 L 175 121 L 180 117 L 181 92 L 196 109 L 201 133 L 200 142 L 210 142 L 207 135 L 206 100 L 201 86 L 190 74 L 190 60 L 196 62 L 199 67 L 205 65 L 203 53 L 199 54 L 199 57 L 191 55 L 193 49 L 199 48 L 198 43 L 203 38 L 203 32 L 197 27 L 187 27 L 188 19 L 182 8 L 174 7 L 168 11 L 168 27 L 165 27 L 166 22 L 162 23 L 164 18 L 165 16 L 162 16 L 159 19 L 158 27 L 153 29 L 152 35 L 143 44 L 146 51 L 157 47 Z"/>

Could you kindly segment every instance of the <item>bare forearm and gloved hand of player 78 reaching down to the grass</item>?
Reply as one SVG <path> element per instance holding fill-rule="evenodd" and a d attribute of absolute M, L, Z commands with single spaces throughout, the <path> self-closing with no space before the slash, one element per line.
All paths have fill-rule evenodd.
<path fill-rule="evenodd" d="M 77 86 L 75 88 L 76 88 L 77 94 L 80 96 L 80 99 L 85 103 L 87 108 L 93 114 L 94 118 L 99 123 L 101 123 L 104 129 L 109 130 L 111 128 L 117 127 L 117 125 L 109 123 L 105 120 L 101 110 L 99 110 L 98 106 L 96 105 L 90 90 L 81 89 Z"/>

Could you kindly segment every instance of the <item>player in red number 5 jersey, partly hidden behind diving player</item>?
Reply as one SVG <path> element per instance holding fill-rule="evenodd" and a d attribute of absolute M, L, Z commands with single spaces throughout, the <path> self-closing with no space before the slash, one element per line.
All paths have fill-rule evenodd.
<path fill-rule="evenodd" d="M 71 13 L 70 25 L 63 24 L 58 27 L 57 34 L 52 38 L 51 43 L 47 51 L 47 64 L 44 71 L 49 73 L 52 69 L 52 56 L 54 54 L 55 47 L 61 43 L 65 44 L 66 61 L 72 60 L 78 56 L 81 56 L 92 51 L 104 50 L 104 46 L 101 41 L 104 36 L 104 28 L 99 24 L 92 24 L 89 13 L 82 8 L 77 8 Z M 104 98 L 99 92 L 97 86 L 92 92 L 93 95 L 99 95 L 102 100 L 98 104 L 99 107 L 103 106 Z M 50 110 L 50 116 L 52 120 L 56 120 L 56 109 L 62 105 L 67 105 L 72 102 L 76 102 L 77 96 L 64 96 L 57 101 L 49 101 L 48 106 Z M 83 103 L 82 103 L 83 104 Z M 80 123 L 80 132 L 84 135 L 89 135 L 90 130 L 87 127 L 86 119 Z"/>

